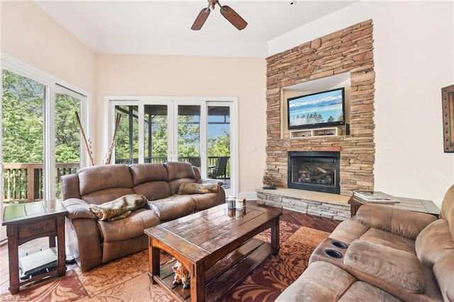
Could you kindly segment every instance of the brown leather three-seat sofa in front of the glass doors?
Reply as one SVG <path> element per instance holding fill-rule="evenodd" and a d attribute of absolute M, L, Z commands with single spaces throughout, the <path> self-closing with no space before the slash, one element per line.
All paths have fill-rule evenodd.
<path fill-rule="evenodd" d="M 97 165 L 62 176 L 67 229 L 77 235 L 73 254 L 82 271 L 148 248 L 145 228 L 225 202 L 220 185 L 217 192 L 178 194 L 182 183 L 213 181 L 201 179 L 197 168 L 181 162 Z M 104 204 L 128 194 L 145 196 L 148 205 L 116 221 L 100 221 L 89 210 L 89 204 Z"/>

